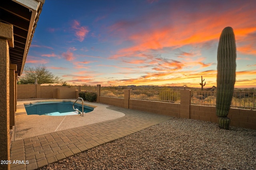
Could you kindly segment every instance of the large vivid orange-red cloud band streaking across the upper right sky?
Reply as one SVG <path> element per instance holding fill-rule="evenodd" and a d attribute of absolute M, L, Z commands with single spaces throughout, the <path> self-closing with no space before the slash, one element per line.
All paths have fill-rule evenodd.
<path fill-rule="evenodd" d="M 167 18 L 168 16 L 174 15 L 170 14 L 171 11 L 172 10 L 165 14 Z M 184 14 L 178 15 L 177 13 L 175 16 L 184 16 Z M 175 21 L 168 22 L 168 24 L 164 26 L 161 26 L 161 21 L 158 21 L 158 26 L 154 25 L 150 28 L 138 29 L 136 32 L 129 30 L 133 23 L 119 21 L 110 27 L 110 31 L 114 30 L 116 33 L 120 31 L 120 34 L 123 32 L 128 34 L 130 32 L 127 39 L 132 41 L 133 45 L 120 49 L 116 54 L 112 55 L 110 59 L 138 56 L 136 55 L 138 51 L 149 52 L 150 50 L 178 48 L 183 47 L 184 45 L 195 46 L 209 41 L 217 42 L 222 29 L 226 26 L 232 26 L 234 28 L 236 39 L 240 42 L 243 41 L 245 35 L 249 35 L 256 31 L 256 27 L 252 27 L 254 20 L 252 20 L 253 18 L 251 16 L 255 16 L 254 9 L 241 13 L 239 10 L 236 11 L 230 8 L 220 12 L 218 15 L 212 15 L 210 12 L 205 13 L 204 15 L 194 13 L 188 17 L 178 17 Z M 145 20 L 151 21 L 152 18 L 149 17 L 152 16 L 150 15 L 148 18 L 144 16 Z M 124 23 L 128 25 L 127 28 L 124 27 Z M 243 27 L 241 27 L 241 25 Z M 246 46 L 246 50 L 249 51 L 248 53 L 254 53 L 254 46 Z M 238 50 L 240 49 L 241 48 L 238 48 Z"/>

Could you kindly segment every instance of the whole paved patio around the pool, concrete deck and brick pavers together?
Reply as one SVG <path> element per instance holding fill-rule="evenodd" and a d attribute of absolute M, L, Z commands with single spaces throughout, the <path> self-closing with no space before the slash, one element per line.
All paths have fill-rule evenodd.
<path fill-rule="evenodd" d="M 12 162 L 17 160 L 21 162 L 11 164 L 11 169 L 37 169 L 172 118 L 171 116 L 145 111 L 90 103 L 98 108 L 92 111 L 95 117 L 92 117 L 88 124 L 81 125 L 78 121 L 89 117 L 87 116 L 88 113 L 84 117 L 68 115 L 65 119 L 56 120 L 54 117 L 65 116 L 44 118 L 46 117 L 44 115 L 35 115 L 33 117 L 32 115 L 26 115 L 26 112 L 24 113 L 23 103 L 29 103 L 29 101 L 17 102 L 19 107 L 17 107 L 14 130 L 16 134 L 14 134 L 15 141 L 12 141 L 10 157 Z M 97 119 L 100 116 L 104 117 L 104 115 L 109 118 L 107 120 Z M 77 116 L 79 119 L 73 119 L 71 116 Z M 70 121 L 66 121 L 66 119 Z M 53 124 L 54 127 L 52 127 Z M 37 131 L 41 131 L 41 134 L 34 133 L 33 129 L 38 129 Z M 22 161 L 24 161 L 24 164 L 22 164 Z"/>

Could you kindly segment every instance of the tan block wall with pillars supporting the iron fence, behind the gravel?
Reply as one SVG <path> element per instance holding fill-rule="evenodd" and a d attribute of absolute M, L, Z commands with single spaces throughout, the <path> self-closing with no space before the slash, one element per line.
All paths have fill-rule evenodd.
<path fill-rule="evenodd" d="M 215 106 L 200 106 L 190 104 L 190 90 L 180 91 L 180 104 L 157 102 L 150 100 L 130 99 L 129 89 L 124 90 L 124 98 L 112 98 L 99 96 L 100 85 L 97 85 L 97 98 L 100 103 L 113 106 L 149 111 L 162 115 L 182 117 L 187 119 L 196 119 L 218 123 Z M 97 100 L 98 100 L 97 99 Z M 228 113 L 230 126 L 256 129 L 256 110 L 230 108 Z"/>

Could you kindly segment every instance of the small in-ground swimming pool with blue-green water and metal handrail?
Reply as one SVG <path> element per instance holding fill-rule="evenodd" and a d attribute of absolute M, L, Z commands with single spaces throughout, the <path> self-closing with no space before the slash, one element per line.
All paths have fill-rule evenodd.
<path fill-rule="evenodd" d="M 50 115 L 50 116 L 64 116 L 64 115 L 78 115 L 78 111 L 74 111 L 73 102 L 36 102 L 24 104 L 27 115 Z M 82 111 L 81 104 L 75 104 L 74 108 Z M 93 111 L 93 107 L 84 105 L 84 113 Z"/>

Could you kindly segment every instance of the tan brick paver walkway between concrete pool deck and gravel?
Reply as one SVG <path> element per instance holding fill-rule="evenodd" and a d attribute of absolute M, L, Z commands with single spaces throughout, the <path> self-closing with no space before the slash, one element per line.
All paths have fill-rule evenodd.
<path fill-rule="evenodd" d="M 11 169 L 34 170 L 172 118 L 116 106 L 110 106 L 108 109 L 125 113 L 125 116 L 13 141 L 11 161 L 18 162 L 12 163 Z"/>

